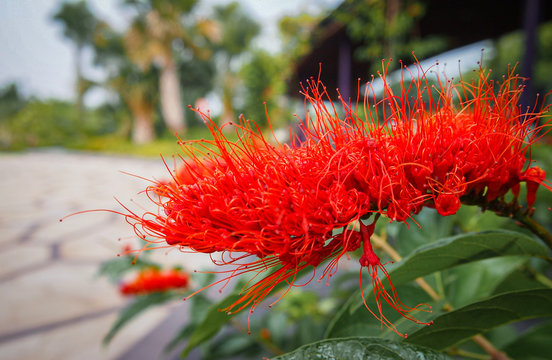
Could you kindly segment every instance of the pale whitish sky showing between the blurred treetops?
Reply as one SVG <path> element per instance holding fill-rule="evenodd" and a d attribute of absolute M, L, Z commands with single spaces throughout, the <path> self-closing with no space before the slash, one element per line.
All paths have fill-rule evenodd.
<path fill-rule="evenodd" d="M 124 29 L 131 16 L 121 5 L 123 0 L 88 0 L 96 16 L 117 29 Z M 200 0 L 201 12 L 208 13 L 214 4 L 230 0 Z M 339 0 L 242 0 L 250 15 L 262 24 L 262 37 L 257 44 L 276 50 L 279 42 L 277 20 L 283 15 L 302 11 L 317 12 L 335 6 Z M 0 1 L 0 87 L 17 82 L 26 95 L 40 98 L 71 99 L 74 96 L 73 47 L 62 34 L 52 15 L 62 0 Z M 85 54 L 88 64 L 84 75 L 101 77 L 91 65 L 92 54 Z M 92 101 L 93 102 L 93 101 Z"/>

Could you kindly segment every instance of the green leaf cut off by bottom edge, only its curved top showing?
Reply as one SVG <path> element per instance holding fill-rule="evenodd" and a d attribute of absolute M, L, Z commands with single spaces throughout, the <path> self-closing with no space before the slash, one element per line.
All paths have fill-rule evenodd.
<path fill-rule="evenodd" d="M 448 356 L 422 346 L 371 337 L 337 338 L 304 345 L 275 360 L 448 360 Z"/>

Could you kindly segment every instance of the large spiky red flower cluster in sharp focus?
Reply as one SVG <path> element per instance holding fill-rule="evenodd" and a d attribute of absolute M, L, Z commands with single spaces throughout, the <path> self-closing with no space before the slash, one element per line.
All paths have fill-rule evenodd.
<path fill-rule="evenodd" d="M 423 207 L 443 216 L 462 203 L 485 207 L 510 189 L 517 194 L 520 182 L 532 206 L 545 174 L 529 167 L 526 153 L 547 126 L 538 124 L 543 110 L 520 112 L 522 87 L 512 73 L 501 84 L 481 70 L 474 83 L 436 76 L 432 85 L 428 72 L 416 71 L 403 67 L 410 78 L 398 94 L 384 72 L 383 94 L 370 85 L 364 104 L 342 102 L 341 117 L 311 80 L 304 93 L 314 116 L 307 114 L 299 145 L 269 143 L 249 122 L 236 125 L 239 140 L 231 142 L 201 114 L 213 140 L 183 143 L 187 156 L 172 181 L 148 188 L 159 213 L 129 211 L 127 220 L 138 236 L 163 246 L 222 252 L 214 262 L 234 270 L 221 281 L 253 273 L 228 312 L 252 312 L 277 284 L 297 286 L 301 270 L 331 259 L 320 276 L 328 281 L 341 256 L 362 244 L 361 270 L 372 276 L 377 317 L 396 331 L 382 313 L 383 298 L 416 321 L 408 313 L 418 307 L 383 289 L 378 269 L 387 272 L 370 244 L 375 220 L 363 221 L 406 221 Z M 359 223 L 360 232 L 353 230 Z"/>

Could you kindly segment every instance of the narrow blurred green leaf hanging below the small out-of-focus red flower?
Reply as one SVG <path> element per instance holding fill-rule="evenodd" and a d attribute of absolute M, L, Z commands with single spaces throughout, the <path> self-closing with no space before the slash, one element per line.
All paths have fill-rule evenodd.
<path fill-rule="evenodd" d="M 181 298 L 182 294 L 174 292 L 157 292 L 149 295 L 137 296 L 130 304 L 119 313 L 119 317 L 109 329 L 109 332 L 103 339 L 103 344 L 107 345 L 113 340 L 113 337 L 125 326 L 130 320 L 147 308 L 166 303 L 175 298 Z"/>

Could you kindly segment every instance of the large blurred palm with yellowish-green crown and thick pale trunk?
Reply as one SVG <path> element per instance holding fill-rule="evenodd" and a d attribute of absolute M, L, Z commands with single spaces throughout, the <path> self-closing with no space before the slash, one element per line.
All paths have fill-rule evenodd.
<path fill-rule="evenodd" d="M 174 46 L 181 42 L 194 56 L 206 58 L 209 56 L 208 50 L 198 45 L 193 35 L 199 33 L 211 36 L 216 30 L 209 27 L 208 21 L 198 24 L 195 20 L 188 19 L 189 24 L 183 23 L 197 0 L 126 0 L 126 3 L 133 5 L 138 11 L 137 18 L 125 34 L 127 55 L 143 69 L 151 64 L 159 67 L 163 119 L 171 131 L 184 134 L 187 125 L 182 111 L 180 76 L 174 58 Z"/>

